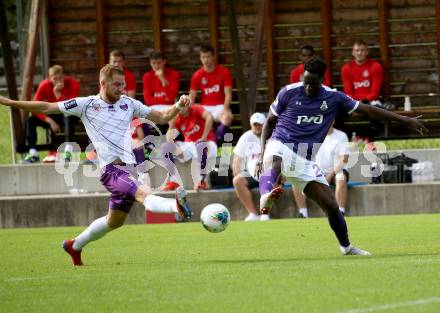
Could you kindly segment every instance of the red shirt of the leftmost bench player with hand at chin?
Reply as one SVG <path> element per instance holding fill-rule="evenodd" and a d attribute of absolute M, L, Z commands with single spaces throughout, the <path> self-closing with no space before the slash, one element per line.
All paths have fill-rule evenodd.
<path fill-rule="evenodd" d="M 44 79 L 40 85 L 38 85 L 38 89 L 35 92 L 34 100 L 35 101 L 46 101 L 46 102 L 58 102 L 65 101 L 72 98 L 76 98 L 79 95 L 79 82 L 71 76 L 64 76 L 64 88 L 61 89 L 61 96 L 59 98 L 55 97 L 53 93 L 53 83 L 49 78 Z M 45 121 L 46 115 L 39 113 L 32 113 L 35 117 L 39 118 L 42 121 Z"/>

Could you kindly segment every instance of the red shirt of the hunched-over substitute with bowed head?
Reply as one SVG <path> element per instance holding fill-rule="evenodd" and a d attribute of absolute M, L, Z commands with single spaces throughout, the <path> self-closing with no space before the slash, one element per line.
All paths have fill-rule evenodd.
<path fill-rule="evenodd" d="M 186 142 L 196 142 L 202 138 L 203 130 L 205 129 L 203 112 L 205 112 L 205 109 L 202 106 L 192 105 L 189 107 L 188 116 L 177 115 L 175 126 L 182 133 Z M 209 130 L 207 140 L 216 142 L 212 127 Z"/>

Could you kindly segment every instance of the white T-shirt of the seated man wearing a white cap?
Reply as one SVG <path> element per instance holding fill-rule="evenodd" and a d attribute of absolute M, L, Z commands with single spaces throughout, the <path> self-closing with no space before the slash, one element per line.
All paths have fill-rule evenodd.
<path fill-rule="evenodd" d="M 255 176 L 255 167 L 257 166 L 261 153 L 260 140 L 260 137 L 257 137 L 252 130 L 248 130 L 240 137 L 240 139 L 238 139 L 237 145 L 234 149 L 234 153 L 245 160 L 246 172 L 257 181 L 258 177 Z"/>

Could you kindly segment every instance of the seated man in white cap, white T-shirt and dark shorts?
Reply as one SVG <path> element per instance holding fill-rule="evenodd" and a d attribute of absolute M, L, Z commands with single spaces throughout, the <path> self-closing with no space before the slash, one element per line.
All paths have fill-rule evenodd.
<path fill-rule="evenodd" d="M 259 221 L 260 216 L 252 201 L 251 189 L 259 186 L 259 178 L 255 176 L 255 167 L 261 153 L 261 131 L 266 117 L 262 113 L 251 116 L 251 129 L 245 132 L 237 142 L 232 160 L 232 173 L 235 193 L 241 204 L 248 211 L 245 221 Z"/>

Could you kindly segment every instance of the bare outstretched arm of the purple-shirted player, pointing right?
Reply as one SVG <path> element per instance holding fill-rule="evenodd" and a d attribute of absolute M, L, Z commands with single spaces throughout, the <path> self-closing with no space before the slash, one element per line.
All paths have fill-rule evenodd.
<path fill-rule="evenodd" d="M 425 127 L 425 125 L 423 125 L 423 122 L 419 120 L 421 116 L 408 117 L 387 110 L 383 110 L 362 102 L 359 103 L 356 112 L 362 113 L 372 120 L 391 120 L 400 122 L 406 125 L 408 128 L 414 129 L 421 135 L 428 132 L 428 129 Z"/>

